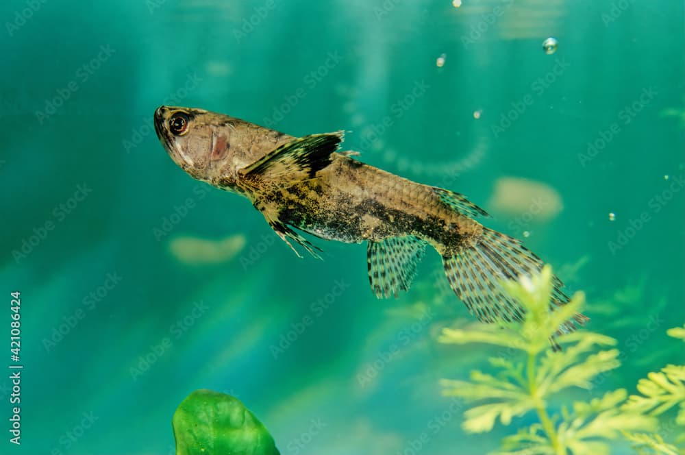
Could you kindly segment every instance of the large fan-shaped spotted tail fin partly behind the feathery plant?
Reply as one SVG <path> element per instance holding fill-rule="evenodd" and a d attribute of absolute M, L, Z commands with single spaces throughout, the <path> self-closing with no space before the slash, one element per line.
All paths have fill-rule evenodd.
<path fill-rule="evenodd" d="M 502 280 L 516 280 L 519 275 L 532 275 L 540 271 L 543 262 L 521 241 L 505 234 L 483 228 L 477 242 L 453 256 L 443 257 L 445 275 L 456 295 L 462 299 L 472 315 L 480 321 L 521 321 L 523 309 L 501 286 Z M 569 297 L 562 291 L 564 286 L 554 277 L 552 305 L 562 306 Z M 575 315 L 574 321 L 566 321 L 558 334 L 573 332 L 577 324 L 588 321 L 584 315 Z M 558 348 L 558 344 L 552 341 Z"/>

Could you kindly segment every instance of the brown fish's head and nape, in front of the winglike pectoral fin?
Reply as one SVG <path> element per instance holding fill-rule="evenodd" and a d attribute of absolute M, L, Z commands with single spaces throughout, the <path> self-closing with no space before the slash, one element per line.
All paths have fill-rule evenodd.
<path fill-rule="evenodd" d="M 155 132 L 171 159 L 191 177 L 235 189 L 238 171 L 292 136 L 197 108 L 160 106 Z"/>

